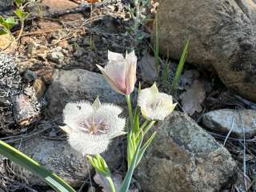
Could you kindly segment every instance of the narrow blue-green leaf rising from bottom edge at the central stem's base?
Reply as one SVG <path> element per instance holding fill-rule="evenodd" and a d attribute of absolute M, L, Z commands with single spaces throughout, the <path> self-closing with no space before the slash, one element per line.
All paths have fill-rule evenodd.
<path fill-rule="evenodd" d="M 129 189 L 130 181 L 131 181 L 131 178 L 134 174 L 134 169 L 137 165 L 138 152 L 139 152 L 140 147 L 142 146 L 142 138 L 143 138 L 143 134 L 142 134 L 141 140 L 138 143 L 137 149 L 136 149 L 135 154 L 134 154 L 134 158 L 133 158 L 133 160 L 132 160 L 132 162 L 131 162 L 128 170 L 127 170 L 126 177 L 122 181 L 122 186 L 121 186 L 119 192 L 127 192 L 128 189 Z"/>

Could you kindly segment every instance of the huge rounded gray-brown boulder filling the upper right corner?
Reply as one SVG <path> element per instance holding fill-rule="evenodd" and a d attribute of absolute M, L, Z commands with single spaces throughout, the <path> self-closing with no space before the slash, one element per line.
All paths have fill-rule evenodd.
<path fill-rule="evenodd" d="M 227 87 L 256 101 L 255 18 L 254 0 L 162 0 L 160 51 L 179 59 L 190 36 L 187 62 L 216 70 Z"/>

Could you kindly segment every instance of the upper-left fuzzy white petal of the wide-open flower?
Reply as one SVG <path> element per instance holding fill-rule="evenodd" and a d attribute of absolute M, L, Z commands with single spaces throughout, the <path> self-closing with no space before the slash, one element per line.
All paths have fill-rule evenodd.
<path fill-rule="evenodd" d="M 66 104 L 63 110 L 63 120 L 72 130 L 77 130 L 78 120 L 92 114 L 94 114 L 94 108 L 90 105 L 90 102 L 70 102 Z"/>

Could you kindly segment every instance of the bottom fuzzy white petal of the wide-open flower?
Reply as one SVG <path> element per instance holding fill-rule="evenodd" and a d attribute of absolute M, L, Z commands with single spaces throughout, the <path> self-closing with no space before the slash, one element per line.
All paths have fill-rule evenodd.
<path fill-rule="evenodd" d="M 82 155 L 101 154 L 107 149 L 110 140 L 104 135 L 83 134 L 82 132 L 69 135 L 70 146 Z"/>

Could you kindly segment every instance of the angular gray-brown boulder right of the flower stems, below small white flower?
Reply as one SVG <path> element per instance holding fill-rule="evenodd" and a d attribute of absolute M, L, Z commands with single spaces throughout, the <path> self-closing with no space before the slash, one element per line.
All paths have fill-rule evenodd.
<path fill-rule="evenodd" d="M 214 192 L 236 178 L 226 148 L 186 114 L 174 112 L 154 127 L 158 133 L 135 178 L 147 192 Z"/>

